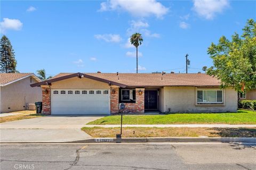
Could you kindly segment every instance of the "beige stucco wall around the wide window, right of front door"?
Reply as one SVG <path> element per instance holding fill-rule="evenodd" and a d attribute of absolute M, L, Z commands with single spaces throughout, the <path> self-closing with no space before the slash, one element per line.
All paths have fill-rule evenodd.
<path fill-rule="evenodd" d="M 237 92 L 227 88 L 223 90 L 223 106 L 197 106 L 196 87 L 164 87 L 164 112 L 236 112 Z"/>

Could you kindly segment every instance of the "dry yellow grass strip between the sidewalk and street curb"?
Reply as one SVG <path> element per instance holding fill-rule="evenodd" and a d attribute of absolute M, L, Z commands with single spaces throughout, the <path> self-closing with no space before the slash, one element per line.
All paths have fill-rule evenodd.
<path fill-rule="evenodd" d="M 115 138 L 120 128 L 82 128 L 94 138 Z M 256 137 L 256 128 L 123 128 L 122 137 Z"/>

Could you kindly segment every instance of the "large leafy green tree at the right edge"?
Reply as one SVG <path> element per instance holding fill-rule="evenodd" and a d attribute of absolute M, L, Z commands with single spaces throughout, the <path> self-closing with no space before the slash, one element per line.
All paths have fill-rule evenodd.
<path fill-rule="evenodd" d="M 213 66 L 206 73 L 221 80 L 221 88 L 234 86 L 242 92 L 256 88 L 256 23 L 247 21 L 243 35 L 225 36 L 217 45 L 211 44 L 207 53 L 213 60 Z"/>

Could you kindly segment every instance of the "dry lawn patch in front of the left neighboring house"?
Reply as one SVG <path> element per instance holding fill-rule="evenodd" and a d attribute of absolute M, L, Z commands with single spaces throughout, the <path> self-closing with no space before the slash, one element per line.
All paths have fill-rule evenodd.
<path fill-rule="evenodd" d="M 44 116 L 42 114 L 36 114 L 36 111 L 18 111 L 18 112 L 11 112 L 11 113 L 17 113 L 17 115 L 0 117 L 0 123 Z"/>

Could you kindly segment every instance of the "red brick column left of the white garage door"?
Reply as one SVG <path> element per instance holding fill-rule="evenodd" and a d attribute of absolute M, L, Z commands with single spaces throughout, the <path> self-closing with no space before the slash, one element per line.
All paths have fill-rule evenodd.
<path fill-rule="evenodd" d="M 51 114 L 51 88 L 49 86 L 41 86 L 42 87 L 42 114 L 50 115 Z"/>

